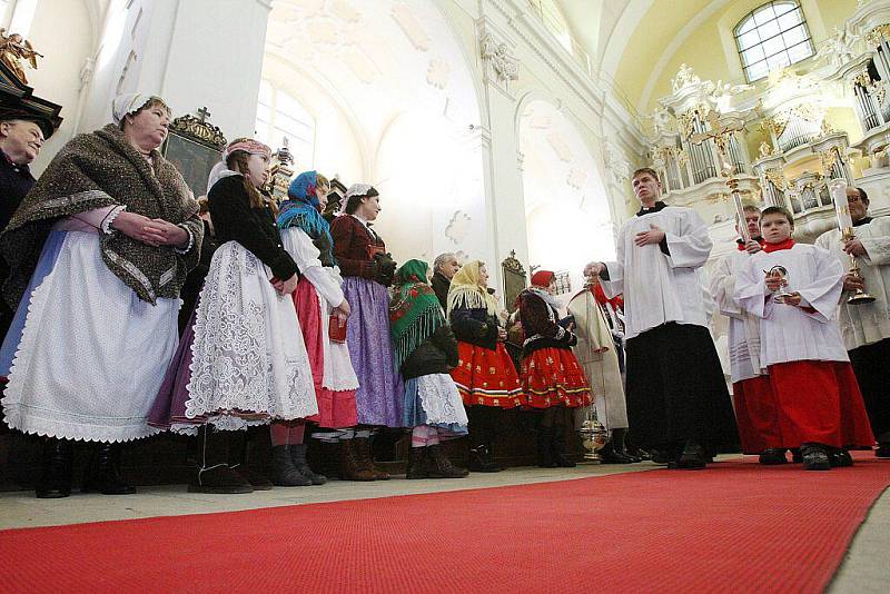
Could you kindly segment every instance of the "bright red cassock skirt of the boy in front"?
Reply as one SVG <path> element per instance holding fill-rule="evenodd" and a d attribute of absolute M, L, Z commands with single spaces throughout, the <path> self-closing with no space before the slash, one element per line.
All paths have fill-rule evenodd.
<path fill-rule="evenodd" d="M 801 360 L 769 366 L 782 447 L 817 443 L 871 447 L 874 435 L 853 368 L 846 362 Z"/>

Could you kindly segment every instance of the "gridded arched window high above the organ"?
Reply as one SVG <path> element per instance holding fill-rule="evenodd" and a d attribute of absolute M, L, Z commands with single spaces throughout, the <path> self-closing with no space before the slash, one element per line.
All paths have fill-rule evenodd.
<path fill-rule="evenodd" d="M 798 0 L 773 0 L 755 8 L 739 21 L 733 33 L 748 82 L 813 55 Z"/>

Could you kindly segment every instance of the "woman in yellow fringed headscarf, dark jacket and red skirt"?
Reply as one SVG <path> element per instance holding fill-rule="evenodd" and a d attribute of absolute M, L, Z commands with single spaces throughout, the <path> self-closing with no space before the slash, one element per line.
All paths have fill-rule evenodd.
<path fill-rule="evenodd" d="M 504 348 L 506 330 L 498 323 L 501 309 L 488 294 L 485 264 L 471 261 L 452 279 L 448 320 L 457 337 L 458 362 L 451 374 L 469 418 L 469 469 L 496 473 L 493 446 L 502 410 L 524 402 L 513 360 Z"/>

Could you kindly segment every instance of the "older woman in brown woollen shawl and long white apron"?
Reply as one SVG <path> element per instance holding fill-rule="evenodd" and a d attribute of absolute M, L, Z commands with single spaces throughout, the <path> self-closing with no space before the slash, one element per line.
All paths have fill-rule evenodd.
<path fill-rule="evenodd" d="M 115 123 L 75 137 L 0 237 L 17 319 L 3 415 L 44 437 L 38 497 L 71 491 L 71 442 L 93 442 L 82 491 L 132 493 L 118 444 L 155 433 L 148 412 L 177 346 L 179 290 L 198 261 L 198 204 L 158 147 L 170 109 L 113 102 Z"/>

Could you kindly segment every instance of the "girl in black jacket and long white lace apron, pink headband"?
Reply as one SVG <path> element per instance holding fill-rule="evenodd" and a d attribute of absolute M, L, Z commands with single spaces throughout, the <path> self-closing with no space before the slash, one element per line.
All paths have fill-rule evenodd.
<path fill-rule="evenodd" d="M 172 395 L 174 430 L 201 433 L 200 493 L 249 493 L 229 464 L 235 432 L 318 413 L 309 359 L 290 294 L 298 270 L 281 245 L 276 209 L 260 188 L 270 149 L 233 141 L 214 168 L 208 202 L 220 246 L 201 290 L 187 389 Z M 164 406 L 156 403 L 158 408 Z"/>

